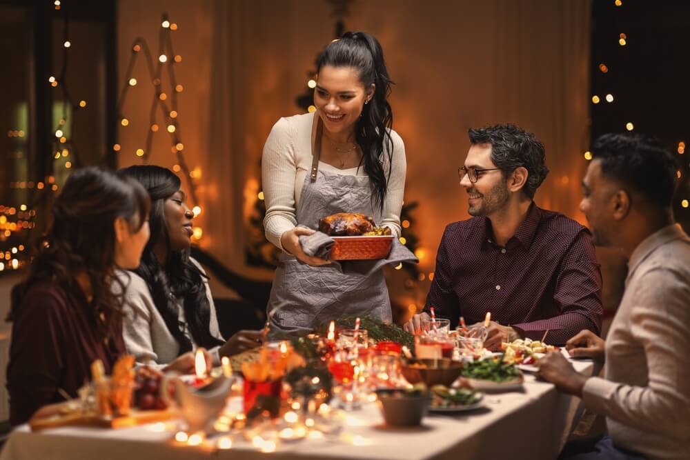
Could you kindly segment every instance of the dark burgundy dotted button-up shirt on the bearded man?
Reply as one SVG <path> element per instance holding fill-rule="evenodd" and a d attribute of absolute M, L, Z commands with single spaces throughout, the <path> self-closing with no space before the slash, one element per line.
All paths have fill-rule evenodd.
<path fill-rule="evenodd" d="M 558 212 L 531 204 L 505 247 L 491 221 L 473 217 L 446 227 L 424 310 L 457 324 L 486 312 L 524 337 L 562 345 L 602 321 L 602 277 L 589 230 Z"/>

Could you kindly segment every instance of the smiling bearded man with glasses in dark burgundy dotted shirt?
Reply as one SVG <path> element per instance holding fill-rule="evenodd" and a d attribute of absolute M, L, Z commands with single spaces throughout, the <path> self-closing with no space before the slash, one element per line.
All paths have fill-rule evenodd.
<path fill-rule="evenodd" d="M 419 332 L 433 306 L 451 327 L 491 312 L 489 350 L 546 331 L 557 345 L 580 330 L 599 334 L 602 279 L 591 233 L 533 201 L 549 172 L 542 143 L 513 125 L 470 129 L 469 140 L 458 176 L 473 217 L 446 227 L 424 312 L 405 329 Z"/>

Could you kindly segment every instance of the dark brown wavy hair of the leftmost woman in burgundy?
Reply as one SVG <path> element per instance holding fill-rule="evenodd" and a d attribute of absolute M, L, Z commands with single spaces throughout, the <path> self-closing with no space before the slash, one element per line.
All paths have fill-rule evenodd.
<path fill-rule="evenodd" d="M 122 217 L 132 231 L 138 231 L 146 222 L 148 207 L 146 190 L 133 179 L 95 167 L 72 172 L 53 203 L 52 225 L 38 241 L 26 279 L 12 290 L 8 321 L 35 283 L 50 282 L 68 292 L 83 292 L 75 275 L 86 272 L 90 325 L 101 339 L 121 330 L 124 298 L 112 290 L 112 282 L 117 282 L 115 220 Z"/>

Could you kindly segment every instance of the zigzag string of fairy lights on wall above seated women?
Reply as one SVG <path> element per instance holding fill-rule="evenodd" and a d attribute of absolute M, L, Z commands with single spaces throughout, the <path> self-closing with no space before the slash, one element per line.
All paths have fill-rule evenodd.
<path fill-rule="evenodd" d="M 117 102 L 117 117 L 119 123 L 118 136 L 122 133 L 121 130 L 132 129 L 130 120 L 126 116 L 125 102 L 130 90 L 139 85 L 139 79 L 135 76 L 135 66 L 139 59 L 144 59 L 146 63 L 146 71 L 148 81 L 152 85 L 154 92 L 152 96 L 151 106 L 149 110 L 149 123 L 146 131 L 146 141 L 144 146 L 139 146 L 134 153 L 140 157 L 144 163 L 150 159 L 152 152 L 152 144 L 154 136 L 157 132 L 168 132 L 170 139 L 170 152 L 175 155 L 175 164 L 172 165 L 172 170 L 176 173 L 181 173 L 186 180 L 187 190 L 190 199 L 195 203 L 193 212 L 195 217 L 201 214 L 201 206 L 199 205 L 199 194 L 197 193 L 197 180 L 201 178 L 201 168 L 196 167 L 190 169 L 184 157 L 184 143 L 182 143 L 182 134 L 179 125 L 179 109 L 177 105 L 178 94 L 184 90 L 184 87 L 178 83 L 175 76 L 175 65 L 181 63 L 182 57 L 175 54 L 172 47 L 172 32 L 178 30 L 179 26 L 175 22 L 171 22 L 168 13 L 164 13 L 161 17 L 159 30 L 159 40 L 157 54 L 152 54 L 148 43 L 141 37 L 135 39 L 132 43 L 131 54 L 127 70 L 124 76 L 124 83 Z M 168 75 L 168 83 L 170 90 L 166 91 L 163 85 L 164 72 Z M 163 119 L 162 124 L 157 121 L 157 114 L 161 114 Z M 164 129 L 162 129 L 164 128 Z M 121 152 L 122 146 L 116 142 L 112 146 L 114 152 Z M 193 232 L 193 239 L 199 241 L 203 235 L 201 227 L 195 227 Z"/>

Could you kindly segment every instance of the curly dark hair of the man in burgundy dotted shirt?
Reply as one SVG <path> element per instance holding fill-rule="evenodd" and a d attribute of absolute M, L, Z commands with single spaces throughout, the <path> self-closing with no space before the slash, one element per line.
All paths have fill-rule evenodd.
<path fill-rule="evenodd" d="M 487 128 L 470 128 L 470 143 L 491 144 L 491 161 L 506 177 L 520 166 L 527 170 L 527 181 L 522 191 L 528 198 L 542 185 L 549 168 L 544 164 L 544 145 L 531 132 L 515 125 L 504 124 Z"/>

